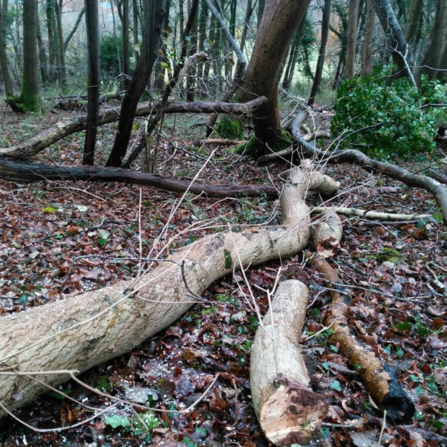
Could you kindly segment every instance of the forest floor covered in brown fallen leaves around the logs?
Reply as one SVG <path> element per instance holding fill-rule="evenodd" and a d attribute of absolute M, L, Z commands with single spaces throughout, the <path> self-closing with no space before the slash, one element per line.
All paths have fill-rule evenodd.
<path fill-rule="evenodd" d="M 0 108 L 1 146 L 24 140 L 70 115 L 23 117 Z M 168 140 L 161 139 L 158 173 L 192 179 L 215 151 L 198 182 L 271 185 L 273 181 L 281 187 L 285 164 L 259 166 L 222 147 L 194 147 L 205 123 L 206 117 L 197 115 L 166 119 L 168 140 L 194 156 L 180 150 L 173 153 Z M 113 136 L 113 125 L 100 128 L 98 164 L 105 161 Z M 82 148 L 83 134 L 73 135 L 35 161 L 78 165 Z M 445 157 L 442 150 L 438 148 L 440 158 Z M 420 170 L 429 161 L 421 163 L 407 167 Z M 327 173 L 342 184 L 332 204 L 437 213 L 425 191 L 351 165 L 328 166 Z M 153 256 L 166 244 L 169 252 L 228 225 L 237 228 L 278 220 L 277 203 L 263 197 L 222 200 L 193 195 L 170 217 L 179 198 L 151 187 L 118 183 L 0 180 L 0 314 L 134 278 L 144 268 L 140 259 L 149 253 Z M 310 194 L 308 203 L 317 205 L 319 199 Z M 314 251 L 309 246 L 281 263 L 249 269 L 247 283 L 238 273 L 217 281 L 204 294 L 213 304 L 196 305 L 131 353 L 82 375 L 91 387 L 126 399 L 128 405 L 117 405 L 113 414 L 75 428 L 46 433 L 32 432 L 7 417 L 0 421 L 0 445 L 267 446 L 251 406 L 249 354 L 259 322 L 247 296 L 250 288 L 266 311 L 266 291 L 272 290 L 278 272 L 282 280 L 299 279 L 310 290 L 302 347 L 312 386 L 330 405 L 322 439 L 314 445 L 377 446 L 381 432 L 382 445 L 447 445 L 447 302 L 433 276 L 447 286 L 447 230 L 437 219 L 342 220 L 342 248 L 330 263 L 353 290 L 352 330 L 380 359 L 400 369 L 400 380 L 417 408 L 411 425 L 384 423 L 355 372 L 346 371 L 352 365 L 328 344 L 330 329 L 321 325 L 321 316 L 330 297 L 313 266 Z M 175 412 L 201 397 L 218 372 L 214 387 L 193 410 Z M 106 408 L 111 404 L 111 399 L 75 383 L 66 383 L 61 390 L 79 403 L 51 392 L 16 416 L 36 428 L 52 429 L 91 417 L 91 410 L 82 405 Z M 131 402 L 172 413 L 140 412 Z"/>

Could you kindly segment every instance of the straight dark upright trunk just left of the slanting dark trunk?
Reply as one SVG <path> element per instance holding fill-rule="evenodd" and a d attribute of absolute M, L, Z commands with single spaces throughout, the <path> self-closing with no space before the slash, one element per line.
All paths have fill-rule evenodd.
<path fill-rule="evenodd" d="M 95 160 L 96 127 L 99 111 L 99 13 L 98 0 L 85 0 L 85 22 L 88 48 L 88 108 L 83 165 L 93 166 Z"/>

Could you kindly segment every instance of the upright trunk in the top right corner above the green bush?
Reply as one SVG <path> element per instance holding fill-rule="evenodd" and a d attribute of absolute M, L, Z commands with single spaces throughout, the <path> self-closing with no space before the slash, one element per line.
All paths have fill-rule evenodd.
<path fill-rule="evenodd" d="M 436 69 L 441 68 L 442 52 L 447 33 L 447 0 L 438 0 L 435 23 L 430 33 L 430 44 L 421 62 L 419 76 L 426 74 L 429 79 L 437 77 Z"/>

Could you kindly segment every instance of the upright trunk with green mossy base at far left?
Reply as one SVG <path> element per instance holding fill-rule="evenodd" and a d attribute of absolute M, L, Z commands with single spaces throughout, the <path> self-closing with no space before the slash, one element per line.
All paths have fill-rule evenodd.
<path fill-rule="evenodd" d="M 17 102 L 35 113 L 40 112 L 37 20 L 37 0 L 23 0 L 23 81 Z"/>

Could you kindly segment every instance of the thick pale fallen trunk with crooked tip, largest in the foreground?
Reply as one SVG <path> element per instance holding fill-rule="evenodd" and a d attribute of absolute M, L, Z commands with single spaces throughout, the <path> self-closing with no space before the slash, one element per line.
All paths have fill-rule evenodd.
<path fill-rule="evenodd" d="M 210 284 L 234 269 L 301 251 L 310 231 L 306 191 L 330 179 L 321 181 L 325 176 L 306 168 L 295 168 L 291 175 L 281 195 L 282 226 L 206 236 L 160 261 L 137 282 L 122 281 L 1 317 L 2 405 L 13 410 L 46 391 L 29 377 L 33 372 L 48 372 L 39 379 L 52 386 L 62 383 L 67 374 L 57 371 L 82 372 L 130 351 L 169 326 Z"/>

